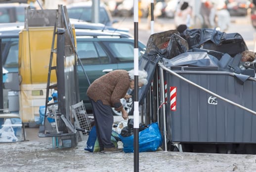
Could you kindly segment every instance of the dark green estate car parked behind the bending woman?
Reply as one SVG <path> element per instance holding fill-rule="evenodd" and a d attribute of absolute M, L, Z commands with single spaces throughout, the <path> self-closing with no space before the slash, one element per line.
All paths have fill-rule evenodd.
<path fill-rule="evenodd" d="M 16 24 L 0 29 L 2 65 L 9 72 L 18 73 L 19 32 L 23 29 L 20 25 Z M 90 83 L 112 70 L 130 70 L 133 68 L 134 39 L 128 33 L 76 29 L 76 38 L 77 53 Z M 139 42 L 139 57 L 142 57 L 145 48 L 146 46 Z M 86 110 L 90 111 L 90 102 L 86 96 L 89 83 L 84 75 L 83 68 L 79 64 L 80 99 L 85 103 Z M 129 112 L 130 109 L 126 101 L 122 101 L 122 103 Z M 120 112 L 114 109 L 113 114 L 121 115 Z"/>

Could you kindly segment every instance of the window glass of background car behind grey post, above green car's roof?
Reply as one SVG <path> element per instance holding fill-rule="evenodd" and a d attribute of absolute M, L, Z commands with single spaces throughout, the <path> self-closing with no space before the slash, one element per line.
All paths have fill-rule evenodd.
<path fill-rule="evenodd" d="M 85 22 L 91 22 L 91 7 L 74 7 L 68 8 L 67 11 L 69 18 L 80 19 Z M 100 7 L 99 16 L 99 23 L 106 24 L 110 22 L 110 19 L 108 18 L 108 13 L 104 8 Z"/>

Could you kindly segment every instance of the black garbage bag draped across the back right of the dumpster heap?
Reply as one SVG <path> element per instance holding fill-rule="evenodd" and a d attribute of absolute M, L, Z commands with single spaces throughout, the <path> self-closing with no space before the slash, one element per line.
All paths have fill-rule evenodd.
<path fill-rule="evenodd" d="M 186 29 L 184 36 L 189 49 L 203 48 L 227 53 L 232 57 L 248 50 L 239 33 L 225 33 L 215 29 Z"/>

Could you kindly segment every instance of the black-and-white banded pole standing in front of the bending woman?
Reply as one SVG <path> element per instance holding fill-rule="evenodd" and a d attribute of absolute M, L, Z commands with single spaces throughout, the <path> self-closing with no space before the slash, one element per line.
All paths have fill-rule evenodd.
<path fill-rule="evenodd" d="M 138 102 L 138 0 L 134 0 L 133 4 L 133 19 L 134 19 L 134 113 L 133 113 L 133 160 L 134 160 L 134 172 L 139 172 L 139 102 Z"/>

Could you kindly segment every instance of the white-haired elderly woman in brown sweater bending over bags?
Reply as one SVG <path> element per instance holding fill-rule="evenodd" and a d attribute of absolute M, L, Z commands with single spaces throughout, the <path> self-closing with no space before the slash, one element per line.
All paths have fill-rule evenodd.
<path fill-rule="evenodd" d="M 148 83 L 147 72 L 138 71 L 138 86 Z M 87 89 L 87 96 L 90 99 L 100 152 L 120 151 L 111 143 L 113 125 L 112 107 L 122 112 L 124 119 L 128 113 L 124 109 L 121 98 L 126 96 L 128 89 L 134 89 L 134 71 L 114 70 L 96 79 Z"/>

